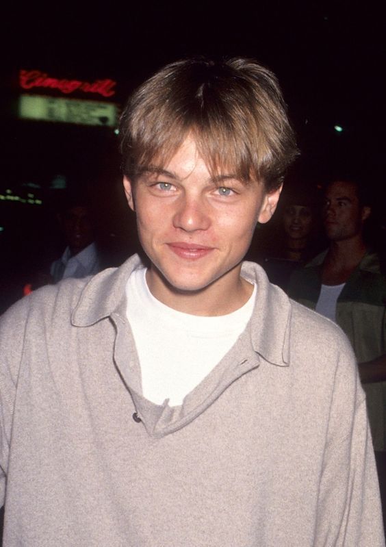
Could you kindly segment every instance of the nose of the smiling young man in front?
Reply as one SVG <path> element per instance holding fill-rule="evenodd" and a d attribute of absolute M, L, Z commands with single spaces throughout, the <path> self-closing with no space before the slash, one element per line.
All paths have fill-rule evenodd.
<path fill-rule="evenodd" d="M 173 226 L 186 232 L 207 230 L 211 224 L 205 200 L 201 197 L 184 195 L 178 203 Z"/>

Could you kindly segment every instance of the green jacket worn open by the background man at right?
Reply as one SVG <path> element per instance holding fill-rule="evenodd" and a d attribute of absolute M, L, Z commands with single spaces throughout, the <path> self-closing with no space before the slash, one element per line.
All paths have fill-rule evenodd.
<path fill-rule="evenodd" d="M 289 282 L 288 294 L 297 302 L 315 309 L 322 285 L 322 264 L 327 251 Z M 386 277 L 376 253 L 366 253 L 352 272 L 337 299 L 336 318 L 352 344 L 359 363 L 386 353 Z M 368 411 L 374 448 L 386 449 L 386 382 L 367 383 Z"/>

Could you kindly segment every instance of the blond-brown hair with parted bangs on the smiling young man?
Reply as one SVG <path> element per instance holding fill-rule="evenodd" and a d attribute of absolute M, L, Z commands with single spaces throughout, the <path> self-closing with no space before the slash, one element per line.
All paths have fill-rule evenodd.
<path fill-rule="evenodd" d="M 188 133 L 212 173 L 278 188 L 298 151 L 276 77 L 257 62 L 168 64 L 133 93 L 120 119 L 123 172 L 164 167 Z"/>

